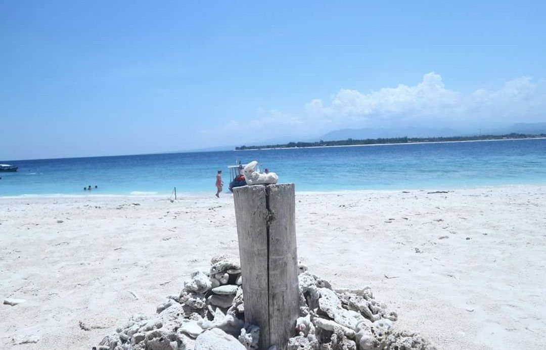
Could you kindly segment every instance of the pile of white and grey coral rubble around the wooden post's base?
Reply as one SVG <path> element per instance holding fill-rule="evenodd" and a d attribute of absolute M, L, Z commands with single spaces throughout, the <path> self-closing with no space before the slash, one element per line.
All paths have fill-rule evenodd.
<path fill-rule="evenodd" d="M 245 324 L 239 260 L 211 259 L 180 295 L 168 296 L 154 317 L 133 316 L 106 336 L 99 350 L 257 350 L 259 328 Z M 300 317 L 288 350 L 435 350 L 416 333 L 393 328 L 395 312 L 369 288 L 333 289 L 299 266 Z M 271 349 L 269 349 L 271 350 Z"/>

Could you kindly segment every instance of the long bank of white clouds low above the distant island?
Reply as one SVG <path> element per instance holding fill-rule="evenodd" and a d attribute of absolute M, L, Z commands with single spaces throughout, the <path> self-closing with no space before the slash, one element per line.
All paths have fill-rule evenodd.
<path fill-rule="evenodd" d="M 316 137 L 340 128 L 431 127 L 468 130 L 517 122 L 546 121 L 544 81 L 521 76 L 496 90 L 450 90 L 435 72 L 416 85 L 376 91 L 342 88 L 329 100 L 312 99 L 299 112 L 258 109 L 250 121 L 230 121 L 224 130 L 267 132 L 272 137 Z"/>

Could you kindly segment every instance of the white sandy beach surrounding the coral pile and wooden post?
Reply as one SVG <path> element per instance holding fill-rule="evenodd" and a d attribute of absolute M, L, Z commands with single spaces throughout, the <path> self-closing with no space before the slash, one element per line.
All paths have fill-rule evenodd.
<path fill-rule="evenodd" d="M 427 192 L 297 193 L 300 260 L 440 349 L 543 346 L 546 187 Z M 217 253 L 238 253 L 229 194 L 0 198 L 0 300 L 25 300 L 0 348 L 91 349 Z"/>

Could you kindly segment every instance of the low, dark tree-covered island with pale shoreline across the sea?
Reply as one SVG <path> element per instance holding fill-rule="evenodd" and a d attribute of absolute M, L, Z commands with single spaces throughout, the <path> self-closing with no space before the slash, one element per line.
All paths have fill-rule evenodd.
<path fill-rule="evenodd" d="M 385 144 L 412 144 L 412 143 L 438 143 L 457 141 L 487 141 L 506 139 L 536 139 L 546 138 L 546 134 L 504 134 L 504 135 L 474 135 L 474 136 L 452 136 L 452 137 L 431 137 L 431 138 L 379 138 L 363 140 L 337 140 L 337 141 L 315 141 L 315 142 L 289 142 L 287 144 L 261 145 L 261 146 L 238 146 L 236 151 L 265 150 L 265 149 L 293 149 L 306 147 L 334 147 L 334 146 L 359 146 L 359 145 L 385 145 Z"/>

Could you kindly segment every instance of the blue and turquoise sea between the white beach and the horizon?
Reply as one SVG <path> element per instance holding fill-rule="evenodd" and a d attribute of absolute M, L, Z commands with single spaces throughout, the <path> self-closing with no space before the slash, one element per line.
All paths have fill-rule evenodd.
<path fill-rule="evenodd" d="M 1 161 L 17 165 L 0 173 L 0 196 L 165 194 L 215 192 L 215 176 L 236 159 L 256 159 L 296 191 L 353 189 L 452 189 L 545 184 L 546 140 L 326 147 L 260 151 Z"/>

